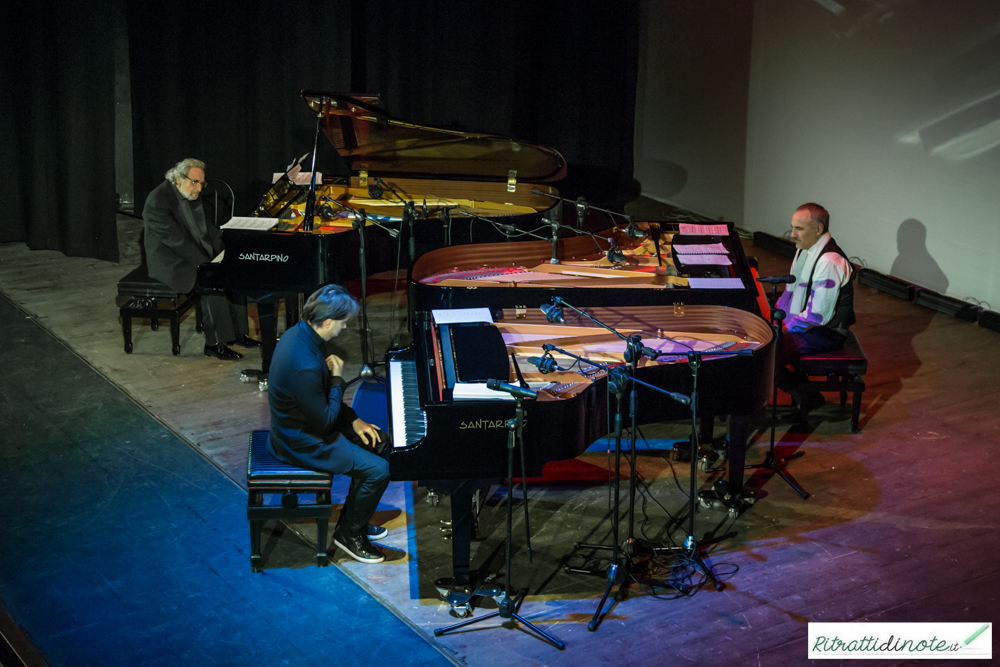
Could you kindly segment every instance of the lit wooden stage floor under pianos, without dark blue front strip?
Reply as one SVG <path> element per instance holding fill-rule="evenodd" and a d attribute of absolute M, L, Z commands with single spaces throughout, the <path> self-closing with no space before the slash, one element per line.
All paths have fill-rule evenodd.
<path fill-rule="evenodd" d="M 245 487 L 247 434 L 266 428 L 268 409 L 266 394 L 241 383 L 239 374 L 259 364 L 259 352 L 251 350 L 237 363 L 204 357 L 193 317 L 182 323 L 179 357 L 170 353 L 166 327 L 152 332 L 138 323 L 134 353 L 122 350 L 115 285 L 138 263 L 140 224 L 119 221 L 120 265 L 0 245 L 0 291 L 219 474 Z M 762 275 L 787 272 L 787 259 L 749 243 L 747 252 L 760 260 Z M 779 421 L 779 455 L 805 452 L 789 472 L 812 497 L 801 500 L 781 479 L 748 471 L 747 484 L 759 496 L 755 505 L 737 518 L 718 509 L 698 512 L 699 540 L 732 533 L 708 548 L 724 591 L 704 588 L 671 599 L 669 592 L 632 586 L 598 631 L 588 632 L 604 581 L 568 574 L 560 562 L 575 542 L 608 542 L 603 451 L 577 460 L 578 470 L 589 472 L 576 481 L 530 489 L 531 564 L 524 554 L 523 514 L 515 506 L 513 579 L 529 589 L 522 615 L 565 641 L 565 651 L 523 628 L 496 628 L 495 622 L 433 637 L 434 628 L 454 621 L 433 587 L 450 570 L 450 544 L 441 531 L 447 501 L 432 507 L 415 485 L 393 483 L 376 517 L 390 529 L 383 542 L 389 562 L 362 565 L 331 553 L 333 562 L 424 631 L 428 641 L 476 667 L 799 665 L 806 660 L 810 621 L 992 621 L 1000 593 L 1000 519 L 993 512 L 1000 499 L 1000 338 L 868 287 L 856 289 L 854 330 L 869 359 L 862 432 L 850 432 L 848 409 L 835 400 L 813 414 L 809 429 Z M 381 352 L 390 334 L 405 328 L 405 308 L 394 310 L 388 293 L 373 295 L 370 304 Z M 351 376 L 360 361 L 356 328 L 336 344 Z M 663 447 L 686 432 L 686 426 L 670 424 L 642 429 L 643 511 L 637 511 L 636 525 L 650 539 L 684 539 L 678 525 L 686 516 L 687 465 L 670 461 Z M 762 459 L 767 438 L 767 432 L 757 438 L 748 462 Z M 699 488 L 720 475 L 700 473 Z M 504 516 L 495 496 L 483 514 L 475 566 L 501 567 Z M 266 567 L 309 567 L 314 540 L 308 524 L 275 527 L 266 539 Z"/>

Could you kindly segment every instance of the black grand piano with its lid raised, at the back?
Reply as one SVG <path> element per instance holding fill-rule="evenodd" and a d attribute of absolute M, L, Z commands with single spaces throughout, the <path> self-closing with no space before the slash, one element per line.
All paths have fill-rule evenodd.
<path fill-rule="evenodd" d="M 394 270 L 400 257 L 405 265 L 411 238 L 414 256 L 451 244 L 530 238 L 524 233 L 559 213 L 558 199 L 546 196 L 558 195 L 552 183 L 566 173 L 554 149 L 407 123 L 389 116 L 377 95 L 303 92 L 302 99 L 351 175 L 317 184 L 306 231 L 309 186 L 295 182 L 294 168 L 248 216 L 259 224 L 224 226 L 225 253 L 198 270 L 200 289 L 257 299 L 264 376 L 276 340 L 276 297 L 360 277 L 362 233 L 371 275 Z M 413 215 L 401 225 L 407 208 Z M 363 229 L 355 214 L 361 210 Z M 400 230 L 398 238 L 374 223 Z"/>

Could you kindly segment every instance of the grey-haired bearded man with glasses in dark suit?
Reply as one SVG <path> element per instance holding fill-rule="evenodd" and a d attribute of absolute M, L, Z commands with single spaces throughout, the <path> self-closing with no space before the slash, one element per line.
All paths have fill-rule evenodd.
<path fill-rule="evenodd" d="M 142 209 L 149 277 L 178 294 L 194 289 L 198 266 L 222 252 L 222 234 L 212 222 L 211 204 L 201 198 L 204 187 L 205 163 L 186 158 L 166 173 Z M 201 307 L 206 357 L 235 361 L 243 355 L 229 345 L 260 345 L 247 335 L 245 299 L 237 302 L 221 294 L 204 294 Z"/>

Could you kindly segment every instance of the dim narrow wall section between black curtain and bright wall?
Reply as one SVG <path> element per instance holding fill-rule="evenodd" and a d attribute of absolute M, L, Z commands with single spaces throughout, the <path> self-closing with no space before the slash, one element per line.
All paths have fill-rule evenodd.
<path fill-rule="evenodd" d="M 742 222 L 751 17 L 749 0 L 642 3 L 635 123 L 642 194 Z"/>

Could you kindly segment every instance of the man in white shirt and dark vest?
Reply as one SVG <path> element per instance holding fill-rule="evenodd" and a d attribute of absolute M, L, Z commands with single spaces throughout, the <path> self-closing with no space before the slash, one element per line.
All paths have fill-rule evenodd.
<path fill-rule="evenodd" d="M 854 267 L 830 236 L 830 214 L 819 204 L 795 209 L 791 227 L 798 250 L 792 260 L 795 282 L 776 304 L 785 311 L 777 382 L 779 389 L 792 396 L 796 420 L 804 421 L 810 410 L 825 401 L 818 391 L 802 391 L 800 383 L 805 378 L 796 367 L 805 355 L 844 347 L 847 331 L 856 321 Z"/>

